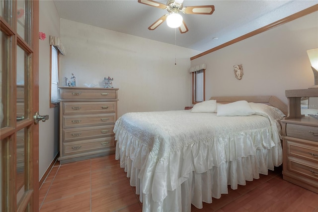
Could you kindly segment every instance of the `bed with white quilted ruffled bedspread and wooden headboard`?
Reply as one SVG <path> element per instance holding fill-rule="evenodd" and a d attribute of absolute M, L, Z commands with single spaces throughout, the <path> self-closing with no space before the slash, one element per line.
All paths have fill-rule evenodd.
<path fill-rule="evenodd" d="M 175 110 L 130 112 L 115 123 L 115 158 L 140 195 L 143 212 L 190 212 L 282 164 L 275 96 L 212 97 L 217 108 L 248 102 L 245 116 Z M 213 102 L 213 103 L 215 103 Z"/>

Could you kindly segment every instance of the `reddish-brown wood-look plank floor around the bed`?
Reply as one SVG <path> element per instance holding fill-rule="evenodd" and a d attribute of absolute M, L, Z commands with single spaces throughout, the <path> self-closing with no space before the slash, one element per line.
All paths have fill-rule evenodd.
<path fill-rule="evenodd" d="M 141 212 L 114 155 L 53 166 L 40 188 L 40 212 Z M 284 181 L 281 169 L 246 182 L 192 212 L 318 212 L 318 194 Z"/>

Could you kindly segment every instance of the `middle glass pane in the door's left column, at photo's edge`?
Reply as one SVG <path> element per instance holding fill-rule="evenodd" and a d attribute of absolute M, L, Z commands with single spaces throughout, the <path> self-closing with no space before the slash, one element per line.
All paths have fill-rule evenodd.
<path fill-rule="evenodd" d="M 8 106 L 6 99 L 7 95 L 7 82 L 8 82 L 8 70 L 9 59 L 8 59 L 8 47 L 9 47 L 9 36 L 2 31 L 0 32 L 0 125 L 1 128 L 8 126 Z"/>

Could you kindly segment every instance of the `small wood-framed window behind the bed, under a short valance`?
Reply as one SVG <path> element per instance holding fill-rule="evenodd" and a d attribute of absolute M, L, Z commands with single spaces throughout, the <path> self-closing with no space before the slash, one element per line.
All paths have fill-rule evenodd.
<path fill-rule="evenodd" d="M 192 72 L 192 104 L 205 101 L 205 69 Z"/>

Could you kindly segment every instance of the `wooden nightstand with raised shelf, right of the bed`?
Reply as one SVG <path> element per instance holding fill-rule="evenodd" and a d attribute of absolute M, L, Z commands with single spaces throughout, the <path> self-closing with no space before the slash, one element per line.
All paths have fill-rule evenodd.
<path fill-rule="evenodd" d="M 301 98 L 318 97 L 318 89 L 287 90 L 286 97 L 283 179 L 318 193 L 318 119 L 301 114 Z"/>

